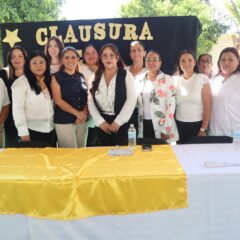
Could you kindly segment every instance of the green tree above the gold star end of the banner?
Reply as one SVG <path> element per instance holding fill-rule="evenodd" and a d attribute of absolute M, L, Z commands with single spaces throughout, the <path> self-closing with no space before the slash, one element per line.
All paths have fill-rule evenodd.
<path fill-rule="evenodd" d="M 0 0 L 0 23 L 54 21 L 58 19 L 64 2 L 65 0 Z"/>

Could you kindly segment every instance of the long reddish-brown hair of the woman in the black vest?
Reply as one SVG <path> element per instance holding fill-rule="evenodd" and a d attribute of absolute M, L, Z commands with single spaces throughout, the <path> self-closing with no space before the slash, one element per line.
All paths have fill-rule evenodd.
<path fill-rule="evenodd" d="M 116 57 L 118 57 L 118 62 L 117 62 L 117 67 L 118 68 L 121 68 L 121 69 L 124 69 L 124 62 L 122 60 L 122 57 L 120 55 L 120 52 L 117 48 L 116 45 L 112 44 L 112 43 L 107 43 L 105 45 L 103 45 L 99 51 L 99 57 L 98 57 L 98 69 L 95 73 L 95 78 L 94 80 L 92 81 L 92 88 L 90 89 L 90 93 L 92 94 L 92 96 L 95 94 L 95 92 L 97 91 L 98 89 L 98 86 L 99 86 L 99 82 L 101 80 L 101 76 L 105 70 L 105 67 L 103 65 L 103 62 L 102 62 L 102 53 L 103 51 L 106 49 L 106 48 L 110 48 L 114 54 L 116 55 Z"/>

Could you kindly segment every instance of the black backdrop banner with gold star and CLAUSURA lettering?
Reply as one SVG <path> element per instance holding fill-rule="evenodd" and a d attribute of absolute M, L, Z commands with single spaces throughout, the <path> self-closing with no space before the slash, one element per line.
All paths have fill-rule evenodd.
<path fill-rule="evenodd" d="M 126 65 L 131 64 L 129 46 L 142 41 L 147 50 L 158 50 L 163 58 L 162 70 L 173 73 L 178 54 L 183 49 L 196 50 L 201 25 L 194 16 L 113 18 L 94 20 L 6 23 L 1 25 L 3 60 L 14 45 L 27 52 L 44 49 L 51 36 L 58 36 L 65 46 L 75 47 L 80 56 L 84 47 L 92 43 L 98 50 L 105 43 L 118 46 Z"/>

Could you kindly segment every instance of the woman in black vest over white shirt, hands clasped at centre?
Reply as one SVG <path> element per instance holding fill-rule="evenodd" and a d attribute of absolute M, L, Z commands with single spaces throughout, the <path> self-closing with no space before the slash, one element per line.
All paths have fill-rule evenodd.
<path fill-rule="evenodd" d="M 105 44 L 92 82 L 89 112 L 97 126 L 101 146 L 127 145 L 129 119 L 137 101 L 132 74 L 124 70 L 118 48 Z"/>

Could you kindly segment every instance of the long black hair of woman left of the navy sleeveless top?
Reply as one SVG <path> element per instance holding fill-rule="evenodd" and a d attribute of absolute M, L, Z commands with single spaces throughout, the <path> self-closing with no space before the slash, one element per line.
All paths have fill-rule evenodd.
<path fill-rule="evenodd" d="M 49 88 L 49 86 L 50 86 L 50 65 L 48 62 L 48 58 L 42 51 L 34 51 L 34 52 L 30 53 L 29 57 L 27 58 L 27 63 L 25 65 L 25 76 L 28 79 L 28 83 L 29 83 L 31 89 L 34 90 L 37 95 L 40 94 L 41 88 L 38 85 L 38 80 L 37 80 L 36 76 L 32 73 L 32 71 L 30 69 L 30 62 L 33 58 L 38 57 L 38 56 L 43 58 L 46 62 L 46 70 L 44 72 L 44 77 L 45 77 L 44 82 L 45 82 L 48 90 L 50 90 L 50 88 Z"/>

